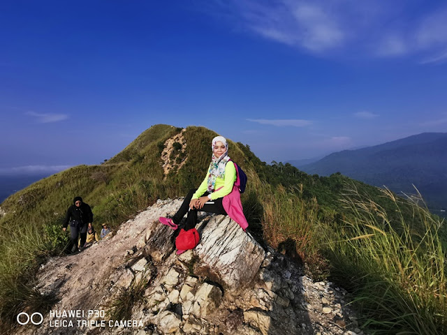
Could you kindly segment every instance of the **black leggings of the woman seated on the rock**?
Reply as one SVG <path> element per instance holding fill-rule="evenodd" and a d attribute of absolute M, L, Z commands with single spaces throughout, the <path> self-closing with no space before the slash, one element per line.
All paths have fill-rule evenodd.
<path fill-rule="evenodd" d="M 197 212 L 198 211 L 206 211 L 208 213 L 216 213 L 216 214 L 223 214 L 226 215 L 225 209 L 223 209 L 222 199 L 219 198 L 216 200 L 210 200 L 210 202 L 214 202 L 214 204 L 204 204 L 201 209 L 191 209 L 189 210 L 189 202 L 191 202 L 191 199 L 193 198 L 194 193 L 196 193 L 197 190 L 191 189 L 186 195 L 186 198 L 184 198 L 182 206 L 180 206 L 179 210 L 173 216 L 173 221 L 177 225 L 182 221 L 182 218 L 184 214 L 188 213 L 188 216 L 186 216 L 186 223 L 184 227 L 182 227 L 184 230 L 190 230 L 194 227 L 196 227 L 197 223 Z M 205 193 L 204 195 L 208 195 L 210 193 Z"/>

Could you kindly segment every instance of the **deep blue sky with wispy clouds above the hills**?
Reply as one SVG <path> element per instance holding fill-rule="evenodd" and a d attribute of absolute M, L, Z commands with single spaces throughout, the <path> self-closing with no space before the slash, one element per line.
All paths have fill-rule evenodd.
<path fill-rule="evenodd" d="M 288 161 L 447 131 L 445 1 L 1 1 L 0 172 L 154 124 Z"/>

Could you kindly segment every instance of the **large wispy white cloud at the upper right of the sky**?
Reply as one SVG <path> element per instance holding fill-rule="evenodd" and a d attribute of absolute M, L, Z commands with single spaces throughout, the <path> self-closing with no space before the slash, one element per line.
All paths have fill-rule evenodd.
<path fill-rule="evenodd" d="M 416 15 L 414 3 L 404 0 L 215 3 L 246 31 L 325 57 L 416 56 L 422 64 L 447 59 L 447 6 L 442 3 Z"/>

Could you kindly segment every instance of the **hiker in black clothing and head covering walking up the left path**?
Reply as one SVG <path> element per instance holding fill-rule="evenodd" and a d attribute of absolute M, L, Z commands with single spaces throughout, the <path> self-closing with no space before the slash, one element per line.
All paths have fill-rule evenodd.
<path fill-rule="evenodd" d="M 91 208 L 85 202 L 82 202 L 81 197 L 76 197 L 73 199 L 73 204 L 68 208 L 67 215 L 65 217 L 63 230 L 67 230 L 68 223 L 70 224 L 71 231 L 71 243 L 73 247 L 71 252 L 78 250 L 78 235 L 80 234 L 81 241 L 80 245 L 85 244 L 87 239 L 87 228 L 89 223 L 93 222 L 93 213 Z"/>

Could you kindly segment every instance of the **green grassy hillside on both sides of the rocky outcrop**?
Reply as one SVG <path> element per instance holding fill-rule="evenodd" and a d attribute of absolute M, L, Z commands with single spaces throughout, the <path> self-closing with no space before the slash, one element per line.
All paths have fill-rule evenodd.
<path fill-rule="evenodd" d="M 183 147 L 177 142 L 163 156 L 167 140 L 181 134 Z M 12 321 L 17 311 L 27 308 L 45 311 L 54 301 L 30 283 L 43 259 L 64 252 L 68 235 L 61 232 L 61 224 L 74 196 L 91 205 L 97 230 L 101 223 L 116 228 L 156 199 L 183 196 L 197 187 L 205 177 L 216 135 L 203 127 L 182 131 L 152 126 L 102 165 L 80 165 L 54 174 L 6 199 L 1 204 L 6 215 L 0 218 L 1 322 Z M 249 176 L 242 204 L 249 230 L 261 243 L 305 262 L 315 278 L 331 276 L 358 295 L 365 318 L 374 321 L 369 323 L 377 331 L 437 334 L 446 329 L 444 251 L 437 233 L 443 226 L 436 217 L 393 193 L 341 174 L 310 176 L 290 164 L 268 165 L 242 143 L 229 140 L 229 145 L 231 158 Z M 183 165 L 165 175 L 166 158 Z M 385 258 L 384 250 L 402 252 Z M 372 258 L 374 253 L 383 258 Z M 401 270 L 399 276 L 394 269 Z M 386 310 L 390 292 L 397 301 L 390 305 L 392 318 Z M 372 293 L 374 301 L 367 299 Z M 418 315 L 416 323 L 404 318 L 408 299 L 419 301 L 411 306 L 411 318 Z M 427 329 L 436 332 L 419 332 L 424 320 Z"/>

